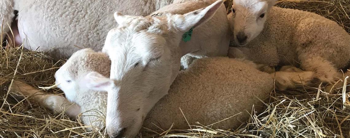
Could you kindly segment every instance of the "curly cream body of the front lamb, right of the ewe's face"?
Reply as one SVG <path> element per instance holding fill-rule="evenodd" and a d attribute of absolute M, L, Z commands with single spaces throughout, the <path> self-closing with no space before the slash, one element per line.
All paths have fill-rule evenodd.
<path fill-rule="evenodd" d="M 169 94 L 149 112 L 144 126 L 150 129 L 189 129 L 200 122 L 210 125 L 241 112 L 213 127 L 236 128 L 249 118 L 252 106 L 261 111 L 262 102 L 273 89 L 269 74 L 227 57 L 197 59 L 176 77 Z M 257 97 L 255 97 L 257 96 Z"/>

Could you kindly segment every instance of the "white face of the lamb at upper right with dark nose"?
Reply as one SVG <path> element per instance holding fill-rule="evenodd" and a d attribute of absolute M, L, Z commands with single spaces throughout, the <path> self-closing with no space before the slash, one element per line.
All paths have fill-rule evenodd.
<path fill-rule="evenodd" d="M 234 29 L 232 39 L 237 45 L 246 45 L 264 29 L 268 4 L 269 1 L 262 0 L 233 0 L 232 25 Z"/>

